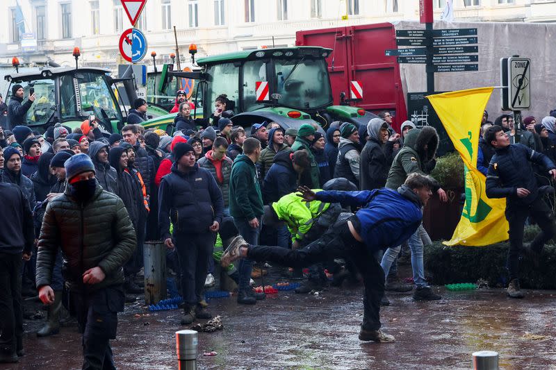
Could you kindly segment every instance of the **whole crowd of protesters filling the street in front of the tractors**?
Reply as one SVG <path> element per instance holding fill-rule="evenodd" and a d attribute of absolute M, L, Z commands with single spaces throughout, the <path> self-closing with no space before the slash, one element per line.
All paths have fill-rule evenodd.
<path fill-rule="evenodd" d="M 27 101 L 16 87 L 23 110 Z M 83 333 L 83 368 L 113 368 L 109 341 L 117 312 L 143 292 L 147 240 L 167 247 L 167 265 L 183 296 L 182 325 L 211 318 L 204 289 L 215 284 L 218 264 L 237 284 L 237 302 L 244 305 L 265 298 L 252 289 L 252 278 L 265 273 L 262 265 L 254 269 L 254 261 L 283 265 L 284 277 L 292 279 L 307 267 L 300 294 L 325 289 L 325 270 L 334 285 L 360 276 L 361 340 L 394 340 L 380 330 L 380 305 L 389 304 L 385 289 L 409 292 L 415 285 L 415 300 L 441 299 L 423 264 L 430 242 L 423 207 L 433 193 L 448 200 L 427 175 L 439 144 L 434 128 L 404 121 L 396 133 L 391 115 L 382 112 L 366 125 L 336 121 L 326 131 L 317 124 L 283 128 L 267 121 L 246 131 L 234 123 L 234 102 L 227 96 L 218 96 L 211 117 L 193 119 L 183 91 L 174 109 L 177 116 L 165 130 L 145 130 L 147 102 L 136 99 L 121 133 L 111 135 L 94 120 L 73 130 L 56 124 L 39 135 L 21 115 L 9 117 L 17 107 L 8 110 L 11 129 L 0 128 L 0 212 L 10 215 L 0 223 L 0 362 L 24 354 L 22 292 L 38 291 L 48 305 L 40 337 L 59 333 L 64 292 L 70 292 L 64 306 Z M 555 122 L 552 116 L 541 124 L 527 117 L 518 142 L 530 149 L 516 146 L 505 154 L 502 140 L 517 141 L 512 117 L 500 116 L 491 126 L 485 112 L 477 168 L 488 175 L 489 196 L 513 199 L 516 192 L 522 201 L 512 201 L 515 209 L 545 215 L 543 202 L 532 199 L 531 193 L 539 193 L 536 184 L 523 186 L 527 194 L 521 187 L 508 190 L 514 186 L 508 182 L 523 178 L 509 180 L 503 171 L 511 163 L 501 158 L 533 160 L 539 174 L 546 175 L 546 167 L 556 177 Z M 527 208 L 531 204 L 534 210 Z M 525 219 L 515 218 L 510 230 L 521 227 L 523 235 Z M 531 253 L 538 254 L 553 235 L 549 220 L 539 222 L 544 232 Z M 519 235 L 510 233 L 510 296 L 521 294 Z M 397 273 L 404 244 L 411 251 L 413 284 Z"/>

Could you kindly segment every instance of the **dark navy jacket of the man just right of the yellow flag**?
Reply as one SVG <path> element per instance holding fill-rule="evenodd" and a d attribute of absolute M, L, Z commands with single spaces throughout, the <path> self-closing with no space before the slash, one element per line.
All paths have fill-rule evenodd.
<path fill-rule="evenodd" d="M 523 144 L 510 144 L 495 151 L 486 175 L 486 196 L 506 198 L 506 208 L 531 204 L 539 196 L 539 187 L 530 162 L 544 167 L 546 172 L 556 169 L 554 163 L 546 155 Z M 524 187 L 530 194 L 519 198 L 516 193 L 518 187 Z"/>

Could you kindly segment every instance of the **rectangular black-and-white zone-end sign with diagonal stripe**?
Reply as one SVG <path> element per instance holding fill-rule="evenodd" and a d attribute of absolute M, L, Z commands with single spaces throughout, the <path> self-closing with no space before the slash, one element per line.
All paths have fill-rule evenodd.
<path fill-rule="evenodd" d="M 508 58 L 508 108 L 527 110 L 531 108 L 531 60 Z"/>

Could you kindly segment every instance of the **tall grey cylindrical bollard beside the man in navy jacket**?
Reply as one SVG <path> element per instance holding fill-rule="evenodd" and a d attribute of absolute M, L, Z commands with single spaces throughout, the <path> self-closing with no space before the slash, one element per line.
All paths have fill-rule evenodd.
<path fill-rule="evenodd" d="M 166 248 L 164 242 L 145 242 L 145 304 L 156 305 L 166 298 Z"/>

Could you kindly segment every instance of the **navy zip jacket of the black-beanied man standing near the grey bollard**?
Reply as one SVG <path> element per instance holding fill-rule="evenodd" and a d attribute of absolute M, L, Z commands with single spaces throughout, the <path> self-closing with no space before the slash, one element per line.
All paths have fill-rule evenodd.
<path fill-rule="evenodd" d="M 158 225 L 162 239 L 170 237 L 170 217 L 174 233 L 208 233 L 213 221 L 222 222 L 224 200 L 211 172 L 195 163 L 187 174 L 177 164 L 162 178 L 158 190 Z"/>

